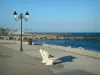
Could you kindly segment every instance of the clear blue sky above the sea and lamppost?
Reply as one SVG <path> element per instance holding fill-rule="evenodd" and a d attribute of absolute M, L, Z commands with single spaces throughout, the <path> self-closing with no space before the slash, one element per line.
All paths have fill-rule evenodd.
<path fill-rule="evenodd" d="M 100 32 L 100 0 L 0 0 L 0 27 L 20 31 L 14 11 L 27 32 Z"/>

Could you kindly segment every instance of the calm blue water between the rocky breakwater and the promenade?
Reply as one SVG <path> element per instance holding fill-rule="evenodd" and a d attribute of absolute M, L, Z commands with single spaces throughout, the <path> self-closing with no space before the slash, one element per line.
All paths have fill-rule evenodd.
<path fill-rule="evenodd" d="M 82 47 L 86 50 L 100 52 L 100 41 L 97 40 L 34 40 L 33 42 L 37 44 L 46 43 L 64 47 L 71 46 L 72 48 Z"/>

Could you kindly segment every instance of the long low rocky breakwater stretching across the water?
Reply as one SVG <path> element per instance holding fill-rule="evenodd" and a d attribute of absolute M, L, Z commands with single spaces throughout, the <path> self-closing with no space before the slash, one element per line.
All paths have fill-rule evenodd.
<path fill-rule="evenodd" d="M 0 36 L 0 39 L 17 39 L 20 40 L 20 35 L 17 36 Z M 51 34 L 36 34 L 36 35 L 23 35 L 23 40 L 100 40 L 100 37 L 71 37 L 71 36 L 56 36 Z"/>

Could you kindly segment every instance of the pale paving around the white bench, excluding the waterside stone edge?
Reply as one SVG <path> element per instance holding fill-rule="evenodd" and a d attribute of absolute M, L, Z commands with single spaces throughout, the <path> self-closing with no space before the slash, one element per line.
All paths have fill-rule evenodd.
<path fill-rule="evenodd" d="M 20 51 L 20 44 L 4 44 L 3 46 Z M 51 55 L 62 60 L 61 63 L 56 65 L 45 66 L 56 75 L 100 75 L 100 60 L 98 59 L 43 46 L 30 46 L 23 44 L 23 49 L 23 53 L 37 59 L 42 59 L 39 49 L 44 49 Z M 40 62 L 41 60 L 38 63 Z"/>

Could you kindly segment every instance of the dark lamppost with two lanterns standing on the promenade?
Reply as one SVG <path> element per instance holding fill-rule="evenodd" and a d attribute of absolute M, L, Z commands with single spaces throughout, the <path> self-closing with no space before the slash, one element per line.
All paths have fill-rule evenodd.
<path fill-rule="evenodd" d="M 23 51 L 23 47 L 22 47 L 22 19 L 24 19 L 25 21 L 27 21 L 29 13 L 26 12 L 26 14 L 24 16 L 22 13 L 20 15 L 17 15 L 17 12 L 14 11 L 13 15 L 14 15 L 14 19 L 16 21 L 21 20 L 21 35 L 20 35 L 21 36 L 21 39 L 20 39 L 21 40 L 21 44 L 20 44 L 20 51 Z"/>

